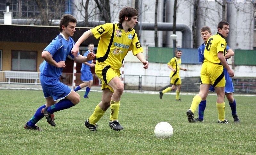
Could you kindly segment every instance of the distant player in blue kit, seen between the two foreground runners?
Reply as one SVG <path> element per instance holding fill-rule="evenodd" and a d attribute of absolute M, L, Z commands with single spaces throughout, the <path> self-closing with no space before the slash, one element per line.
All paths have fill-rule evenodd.
<path fill-rule="evenodd" d="M 87 56 L 89 53 L 93 52 L 94 49 L 94 45 L 93 44 L 89 44 L 88 46 L 88 51 L 86 51 L 84 53 L 84 56 Z M 85 93 L 84 93 L 84 98 L 89 98 L 88 94 L 91 90 L 92 84 L 93 84 L 93 77 L 92 77 L 92 71 L 91 71 L 91 67 L 94 67 L 95 64 L 92 63 L 92 60 L 82 63 L 82 68 L 81 68 L 81 80 L 84 82 L 82 84 L 80 84 L 79 86 L 77 86 L 74 91 L 78 91 L 84 87 L 86 87 Z"/>

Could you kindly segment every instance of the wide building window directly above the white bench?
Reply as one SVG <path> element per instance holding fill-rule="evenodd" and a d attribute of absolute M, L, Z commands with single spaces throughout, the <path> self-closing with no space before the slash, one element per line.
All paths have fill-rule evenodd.
<path fill-rule="evenodd" d="M 36 71 L 36 51 L 12 50 L 12 70 Z"/>

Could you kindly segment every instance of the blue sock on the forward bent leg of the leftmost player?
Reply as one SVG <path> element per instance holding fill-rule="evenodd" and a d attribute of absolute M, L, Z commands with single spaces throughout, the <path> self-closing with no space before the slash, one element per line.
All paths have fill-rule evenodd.
<path fill-rule="evenodd" d="M 75 106 L 75 105 L 70 100 L 63 99 L 63 100 L 60 100 L 58 103 L 48 107 L 47 112 L 53 114 L 56 111 L 68 109 L 68 108 L 73 107 L 73 106 Z"/>

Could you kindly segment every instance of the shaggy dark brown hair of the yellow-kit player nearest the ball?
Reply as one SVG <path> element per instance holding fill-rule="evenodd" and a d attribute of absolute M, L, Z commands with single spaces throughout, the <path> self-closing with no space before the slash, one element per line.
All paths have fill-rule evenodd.
<path fill-rule="evenodd" d="M 120 12 L 119 12 L 119 16 L 118 16 L 118 19 L 119 19 L 119 23 L 123 23 L 124 21 L 124 18 L 125 17 L 128 17 L 128 21 L 131 20 L 131 17 L 133 16 L 138 16 L 138 11 L 132 7 L 124 7 Z"/>

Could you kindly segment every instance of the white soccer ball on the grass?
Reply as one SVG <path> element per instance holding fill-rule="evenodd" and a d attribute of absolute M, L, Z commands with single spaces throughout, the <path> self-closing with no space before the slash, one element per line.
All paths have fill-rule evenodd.
<path fill-rule="evenodd" d="M 171 124 L 160 122 L 156 125 L 154 132 L 157 138 L 169 138 L 173 134 L 173 129 Z"/>

